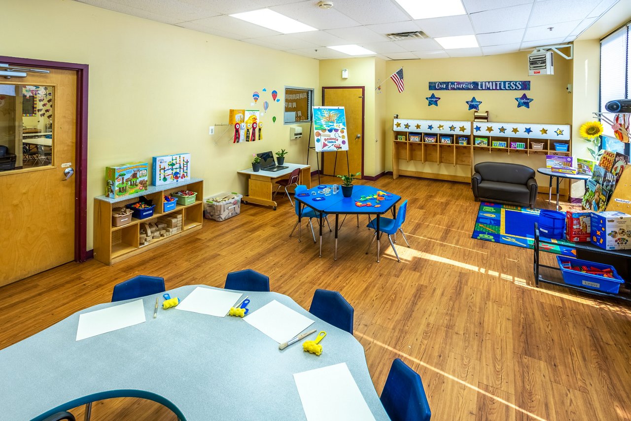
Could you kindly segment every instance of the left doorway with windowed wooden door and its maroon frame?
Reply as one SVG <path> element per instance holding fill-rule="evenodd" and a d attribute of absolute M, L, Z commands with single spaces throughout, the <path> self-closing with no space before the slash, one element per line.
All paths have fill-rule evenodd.
<path fill-rule="evenodd" d="M 47 70 L 0 78 L 0 286 L 85 261 L 87 66 L 0 57 Z"/>

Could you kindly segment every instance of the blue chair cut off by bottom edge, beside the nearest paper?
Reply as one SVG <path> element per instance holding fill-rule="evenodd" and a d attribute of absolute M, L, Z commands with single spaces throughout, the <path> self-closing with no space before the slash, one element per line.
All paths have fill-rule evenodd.
<path fill-rule="evenodd" d="M 381 403 L 392 421 L 429 421 L 432 417 L 421 376 L 399 359 L 392 361 Z"/>

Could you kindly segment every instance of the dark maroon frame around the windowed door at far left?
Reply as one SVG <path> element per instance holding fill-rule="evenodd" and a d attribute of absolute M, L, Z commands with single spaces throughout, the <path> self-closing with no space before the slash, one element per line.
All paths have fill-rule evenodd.
<path fill-rule="evenodd" d="M 15 66 L 65 69 L 77 72 L 74 261 L 83 262 L 91 259 L 93 251 L 86 250 L 88 229 L 88 65 L 7 56 L 0 56 L 0 62 Z"/>

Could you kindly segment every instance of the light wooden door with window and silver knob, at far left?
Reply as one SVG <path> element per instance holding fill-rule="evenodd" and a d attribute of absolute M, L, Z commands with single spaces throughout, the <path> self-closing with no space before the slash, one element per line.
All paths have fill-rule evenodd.
<path fill-rule="evenodd" d="M 4 93 L 11 92 L 11 85 L 15 97 L 0 100 L 0 145 L 16 154 L 15 169 L 0 170 L 0 285 L 74 259 L 75 182 L 72 176 L 66 181 L 64 170 L 77 164 L 77 72 L 50 69 L 48 74 L 0 79 Z M 30 90 L 42 97 L 43 87 L 35 116 L 22 114 L 20 93 Z M 28 148 L 23 148 L 25 140 Z M 31 150 L 33 156 L 25 156 Z"/>

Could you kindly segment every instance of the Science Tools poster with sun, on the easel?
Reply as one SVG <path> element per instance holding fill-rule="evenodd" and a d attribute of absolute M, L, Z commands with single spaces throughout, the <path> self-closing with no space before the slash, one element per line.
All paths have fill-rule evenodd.
<path fill-rule="evenodd" d="M 347 151 L 344 107 L 313 107 L 316 152 Z"/>

